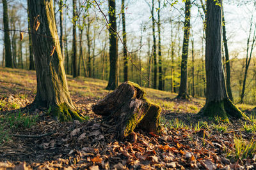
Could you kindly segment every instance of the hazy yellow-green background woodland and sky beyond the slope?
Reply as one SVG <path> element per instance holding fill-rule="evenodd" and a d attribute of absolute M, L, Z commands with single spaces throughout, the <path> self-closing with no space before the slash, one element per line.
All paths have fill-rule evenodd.
<path fill-rule="evenodd" d="M 99 9 L 95 8 L 95 4 L 90 1 L 84 3 L 79 0 L 72 2 L 56 0 L 53 3 L 65 72 L 74 77 L 88 76 L 109 80 L 109 73 L 113 74 L 111 71 L 113 66 L 109 59 L 109 31 L 104 27 L 114 27 L 113 25 L 115 25 L 108 17 L 109 4 L 99 2 L 100 8 L 108 17 L 108 25 Z M 116 65 L 114 64 L 116 67 L 114 71 L 116 77 L 113 78 L 115 82 L 131 80 L 141 86 L 177 93 L 186 87 L 184 90 L 186 94 L 205 97 L 204 24 L 206 6 L 204 1 L 189 3 L 191 2 L 141 1 L 139 4 L 143 8 L 143 13 L 147 13 L 143 17 L 145 14 L 138 13 L 138 11 L 130 13 L 130 8 L 137 5 L 136 3 L 115 2 L 116 9 L 112 11 L 115 11 L 116 32 L 120 34 L 126 46 L 125 49 L 120 40 L 113 36 L 115 39 L 113 41 L 118 41 L 116 42 L 118 57 L 115 59 Z M 27 2 L 3 0 L 2 4 L 1 35 L 3 40 L 6 39 L 5 43 L 10 45 L 6 45 L 4 41 L 1 43 L 3 49 L 1 66 L 35 69 L 31 34 L 26 33 L 31 32 L 27 16 Z M 240 5 L 240 8 L 243 8 L 243 5 L 255 5 L 253 2 L 234 4 Z M 230 3 L 224 2 L 224 16 L 225 5 L 228 6 Z M 191 10 L 191 17 L 186 17 L 188 10 Z M 227 32 L 225 36 L 223 35 L 223 67 L 227 85 L 230 72 L 230 87 L 235 103 L 239 101 L 248 104 L 256 103 L 256 60 L 255 50 L 253 50 L 256 36 L 253 12 L 255 13 L 255 6 L 247 11 L 247 24 L 242 25 L 246 32 L 245 41 L 232 42 L 234 37 L 232 34 L 236 32 L 224 31 L 226 28 L 223 27 L 223 33 Z M 4 24 L 6 14 L 8 25 Z M 138 18 L 140 18 L 140 23 L 134 24 L 134 22 L 138 22 Z M 186 24 L 188 20 L 191 20 L 191 25 Z M 227 19 L 225 21 L 223 26 L 232 27 Z M 136 27 L 133 30 L 132 25 Z M 190 31 L 186 33 L 188 28 Z M 3 32 L 3 30 L 12 31 Z M 22 41 L 20 41 L 20 31 L 24 31 Z M 10 40 L 5 34 L 9 34 Z M 184 41 L 184 39 L 188 41 Z M 244 43 L 245 48 L 232 49 L 228 52 L 226 46 L 232 46 L 234 43 L 238 44 L 237 47 L 240 43 Z M 8 57 L 4 57 L 6 55 Z M 186 80 L 184 80 L 184 75 L 187 76 Z M 111 87 L 113 86 L 112 80 L 110 83 L 109 89 L 113 89 L 117 85 Z"/>

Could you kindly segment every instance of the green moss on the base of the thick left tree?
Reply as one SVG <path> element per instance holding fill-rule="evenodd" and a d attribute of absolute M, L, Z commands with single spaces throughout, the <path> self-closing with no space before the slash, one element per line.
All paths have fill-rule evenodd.
<path fill-rule="evenodd" d="M 79 121 L 84 120 L 76 111 L 71 110 L 67 103 L 62 103 L 60 106 L 51 106 L 51 115 L 57 117 L 61 122 L 67 122 L 73 119 Z"/>

